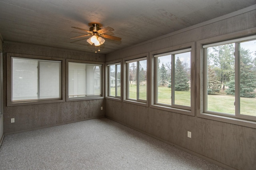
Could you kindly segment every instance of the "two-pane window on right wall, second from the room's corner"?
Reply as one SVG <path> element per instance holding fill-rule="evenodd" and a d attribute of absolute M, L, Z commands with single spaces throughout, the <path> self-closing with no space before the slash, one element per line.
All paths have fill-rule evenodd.
<path fill-rule="evenodd" d="M 126 61 L 126 100 L 147 102 L 147 57 Z"/>

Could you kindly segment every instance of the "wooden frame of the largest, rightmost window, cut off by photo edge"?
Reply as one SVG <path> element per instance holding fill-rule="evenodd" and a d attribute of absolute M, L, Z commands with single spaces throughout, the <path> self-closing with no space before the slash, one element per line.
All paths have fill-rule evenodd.
<path fill-rule="evenodd" d="M 198 54 L 198 69 L 197 69 L 197 74 L 200 75 L 200 78 L 198 78 L 197 80 L 197 84 L 200 84 L 200 86 L 197 86 L 197 91 L 200 92 L 200 98 L 197 98 L 196 101 L 196 112 L 197 112 L 197 117 L 201 117 L 201 118 L 205 118 L 205 119 L 211 119 L 211 120 L 215 120 L 215 121 L 222 121 L 225 123 L 232 123 L 235 125 L 241 125 L 241 126 L 246 126 L 246 127 L 252 127 L 252 128 L 256 128 L 256 121 L 254 120 L 249 120 L 249 119 L 244 119 L 244 116 L 239 117 L 239 116 L 230 116 L 228 114 L 212 114 L 212 113 L 208 113 L 205 112 L 205 104 L 206 104 L 206 100 L 205 100 L 205 90 L 206 89 L 206 66 L 204 66 L 206 64 L 206 57 L 204 55 L 204 48 L 203 45 L 208 45 L 208 44 L 213 44 L 213 43 L 222 43 L 224 41 L 233 41 L 234 39 L 238 39 L 238 38 L 242 38 L 242 37 L 249 37 L 251 35 L 255 35 L 256 34 L 256 28 L 252 28 L 252 29 L 246 29 L 243 31 L 238 31 L 238 32 L 234 32 L 234 33 L 229 33 L 226 35 L 220 35 L 217 37 L 212 37 L 212 38 L 208 38 L 208 39 L 203 39 L 197 42 L 197 54 Z M 236 54 L 237 55 L 237 54 Z M 235 61 L 236 65 L 239 64 L 238 61 Z M 199 69 L 200 68 L 200 69 Z M 238 68 L 235 69 L 236 74 L 239 72 Z M 240 74 L 240 73 L 239 73 Z M 237 82 L 237 80 L 236 80 Z M 237 91 L 237 90 L 236 90 Z M 236 92 L 238 93 L 238 92 Z M 198 95 L 199 96 L 199 95 Z"/>

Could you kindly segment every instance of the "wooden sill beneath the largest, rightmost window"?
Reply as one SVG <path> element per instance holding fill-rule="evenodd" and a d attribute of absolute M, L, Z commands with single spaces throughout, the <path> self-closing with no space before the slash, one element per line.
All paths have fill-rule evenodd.
<path fill-rule="evenodd" d="M 221 122 L 230 123 L 230 124 L 234 124 L 234 125 L 251 127 L 251 128 L 256 129 L 255 121 L 237 119 L 237 118 L 226 117 L 226 116 L 221 116 L 221 115 L 213 115 L 213 114 L 209 114 L 209 113 L 198 113 L 197 117 L 201 117 L 204 119 L 211 119 L 211 120 L 215 120 L 215 121 L 221 121 Z"/>

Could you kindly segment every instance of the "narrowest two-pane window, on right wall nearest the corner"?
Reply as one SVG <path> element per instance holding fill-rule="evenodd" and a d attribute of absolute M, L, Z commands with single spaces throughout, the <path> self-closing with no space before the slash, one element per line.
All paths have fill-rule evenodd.
<path fill-rule="evenodd" d="M 108 96 L 121 97 L 121 63 L 108 64 Z"/>

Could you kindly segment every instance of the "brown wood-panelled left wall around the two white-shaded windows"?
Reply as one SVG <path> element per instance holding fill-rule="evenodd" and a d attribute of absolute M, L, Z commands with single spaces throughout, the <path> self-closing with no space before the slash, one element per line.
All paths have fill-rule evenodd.
<path fill-rule="evenodd" d="M 78 59 L 98 62 L 105 61 L 104 55 L 88 54 L 79 51 L 68 51 L 52 47 L 42 47 L 12 42 L 4 42 L 3 52 L 4 133 L 10 134 L 97 117 L 104 117 L 105 111 L 100 110 L 100 106 L 104 107 L 104 99 L 7 107 L 6 53 L 20 53 L 27 55 L 40 55 L 46 57 L 59 57 L 65 59 Z M 15 118 L 15 123 L 10 123 L 11 118 Z"/>

